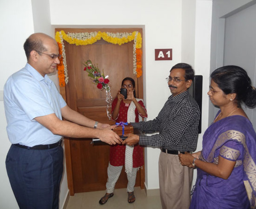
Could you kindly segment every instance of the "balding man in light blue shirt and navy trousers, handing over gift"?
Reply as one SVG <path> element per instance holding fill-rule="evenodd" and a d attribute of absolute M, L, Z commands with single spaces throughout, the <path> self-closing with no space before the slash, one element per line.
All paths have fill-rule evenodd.
<path fill-rule="evenodd" d="M 20 209 L 58 209 L 62 136 L 95 137 L 108 144 L 120 144 L 121 139 L 110 125 L 88 119 L 67 106 L 47 76 L 60 62 L 52 37 L 32 34 L 24 50 L 28 63 L 4 86 L 6 129 L 12 143 L 6 169 Z"/>

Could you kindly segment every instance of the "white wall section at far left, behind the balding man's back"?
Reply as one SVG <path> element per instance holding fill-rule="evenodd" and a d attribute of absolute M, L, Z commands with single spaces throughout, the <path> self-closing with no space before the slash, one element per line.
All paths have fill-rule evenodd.
<path fill-rule="evenodd" d="M 26 64 L 23 43 L 33 33 L 31 0 L 0 1 L 0 91 L 7 78 Z M 0 208 L 17 209 L 7 172 L 5 159 L 11 143 L 6 133 L 6 119 L 3 108 L 3 97 L 0 98 Z"/>

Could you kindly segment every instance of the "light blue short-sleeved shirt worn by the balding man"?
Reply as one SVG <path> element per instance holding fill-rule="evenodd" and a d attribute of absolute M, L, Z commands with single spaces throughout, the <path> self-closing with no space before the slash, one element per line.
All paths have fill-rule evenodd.
<path fill-rule="evenodd" d="M 67 105 L 47 75 L 41 76 L 27 63 L 9 77 L 3 96 L 6 130 L 12 144 L 33 147 L 53 144 L 62 138 L 35 121 L 36 117 L 52 113 L 62 120 L 61 108 Z"/>

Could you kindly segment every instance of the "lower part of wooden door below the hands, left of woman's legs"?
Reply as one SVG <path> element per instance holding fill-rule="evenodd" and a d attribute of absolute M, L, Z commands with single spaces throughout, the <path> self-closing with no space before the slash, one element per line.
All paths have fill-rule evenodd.
<path fill-rule="evenodd" d="M 106 171 L 109 161 L 109 147 L 108 145 L 93 146 L 90 142 L 89 139 L 83 139 L 81 141 L 72 140 L 71 143 L 74 148 L 72 163 L 76 172 L 74 175 L 75 193 L 105 189 L 108 178 Z"/>

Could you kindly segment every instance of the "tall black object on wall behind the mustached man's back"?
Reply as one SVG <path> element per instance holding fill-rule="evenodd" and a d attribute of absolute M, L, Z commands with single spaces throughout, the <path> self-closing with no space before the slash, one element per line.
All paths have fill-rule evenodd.
<path fill-rule="evenodd" d="M 194 81 L 189 88 L 189 93 L 195 101 L 198 103 L 200 109 L 200 121 L 198 125 L 198 133 L 201 133 L 201 125 L 202 125 L 202 92 L 203 92 L 203 76 L 198 75 L 194 77 Z"/>

